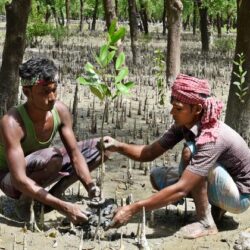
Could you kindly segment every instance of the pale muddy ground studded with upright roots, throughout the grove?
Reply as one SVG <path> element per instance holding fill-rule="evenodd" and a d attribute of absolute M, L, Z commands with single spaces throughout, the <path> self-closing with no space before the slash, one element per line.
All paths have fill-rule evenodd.
<path fill-rule="evenodd" d="M 4 27 L 4 25 L 2 26 Z M 143 47 L 141 50 L 143 54 L 140 57 L 141 64 L 134 69 L 130 67 L 131 77 L 135 81 L 139 80 L 139 82 L 137 82 L 130 96 L 123 97 L 117 103 L 110 104 L 110 116 L 104 125 L 105 135 L 112 135 L 127 142 L 145 143 L 154 141 L 164 132 L 166 127 L 170 126 L 172 120 L 169 116 L 169 98 L 166 99 L 165 107 L 158 104 L 157 88 L 155 87 L 156 78 L 154 72 L 151 71 L 153 66 L 150 65 L 153 61 L 152 51 L 159 48 L 165 49 L 166 47 L 166 38 L 161 37 L 159 33 L 154 33 L 152 36 L 156 35 L 157 40 L 152 37 L 141 40 Z M 75 69 L 83 67 L 86 62 L 84 58 L 89 58 L 91 54 L 88 51 L 89 47 L 87 50 L 85 49 L 86 55 L 81 55 L 79 52 L 79 42 L 84 48 L 86 37 L 87 45 L 90 44 L 94 48 L 100 45 L 99 40 L 103 39 L 104 35 L 102 34 L 101 39 L 98 38 L 99 40 L 88 32 L 85 32 L 83 38 L 78 37 L 72 40 L 74 39 L 72 36 L 64 42 L 65 47 L 61 49 L 54 48 L 53 44 L 48 45 L 50 39 L 46 39 L 41 47 L 27 48 L 25 53 L 25 59 L 34 55 L 46 55 L 60 62 L 60 68 L 65 70 L 66 73 L 61 72 L 63 84 L 58 90 L 59 98 L 70 109 L 72 109 L 73 104 L 75 79 L 78 76 Z M 205 76 L 213 86 L 213 93 L 226 102 L 233 52 L 221 53 L 214 50 L 209 55 L 203 56 L 200 53 L 199 37 L 192 39 L 190 37 L 192 37 L 191 33 L 183 34 L 182 37 L 182 72 Z M 76 46 L 71 46 L 69 49 L 67 45 L 71 44 L 72 41 L 76 43 Z M 125 48 L 129 50 L 128 39 L 125 41 L 126 43 Z M 77 60 L 78 62 L 76 62 Z M 131 55 L 128 57 L 129 62 L 131 62 Z M 83 87 L 80 87 L 78 96 L 77 137 L 86 139 L 100 136 L 103 105 L 95 100 L 95 108 L 93 108 L 93 96 Z M 126 112 L 124 107 L 126 107 Z M 96 121 L 96 132 L 93 131 L 93 121 Z M 57 139 L 55 145 L 59 144 L 60 140 Z M 121 199 L 125 199 L 130 194 L 132 194 L 134 200 L 150 196 L 154 193 L 154 190 L 149 182 L 149 170 L 162 164 L 177 166 L 181 146 L 179 145 L 150 164 L 139 164 L 131 161 L 133 184 L 126 183 L 127 168 L 130 164 L 128 159 L 113 154 L 112 158 L 106 163 L 104 196 L 106 198 L 117 198 L 118 204 L 121 204 Z M 93 178 L 96 178 L 96 175 L 97 173 L 94 171 L 92 173 Z M 79 204 L 86 196 L 86 191 L 79 183 L 70 187 L 65 193 L 65 199 Z M 136 235 L 138 223 L 142 219 L 141 214 L 135 216 L 120 229 L 112 229 L 107 232 L 100 231 L 95 240 L 85 239 L 81 243 L 81 231 L 70 231 L 69 225 L 63 224 L 64 217 L 56 211 L 45 215 L 45 225 L 42 232 L 32 232 L 27 229 L 24 222 L 17 220 L 14 211 L 15 201 L 2 193 L 0 200 L 0 249 L 138 249 Z M 182 239 L 177 232 L 194 215 L 193 201 L 187 199 L 186 202 L 186 205 L 185 203 L 177 207 L 169 205 L 167 208 L 155 210 L 154 220 L 152 220 L 152 214 L 147 213 L 146 237 L 151 249 L 233 249 L 235 242 L 239 239 L 239 234 L 242 231 L 250 230 L 250 210 L 248 210 L 240 215 L 227 213 L 223 223 L 219 225 L 217 235 L 195 240 Z M 121 235 L 122 241 L 120 240 Z M 80 247 L 80 244 L 82 244 L 82 247 Z"/>

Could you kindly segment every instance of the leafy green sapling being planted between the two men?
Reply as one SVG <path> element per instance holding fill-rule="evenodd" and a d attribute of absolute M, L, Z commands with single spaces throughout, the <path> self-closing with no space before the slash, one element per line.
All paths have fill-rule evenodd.
<path fill-rule="evenodd" d="M 125 54 L 118 50 L 118 44 L 125 36 L 125 28 L 121 27 L 116 30 L 116 20 L 113 20 L 107 34 L 107 41 L 101 46 L 99 53 L 95 56 L 96 65 L 87 62 L 84 69 L 85 75 L 77 78 L 77 81 L 84 86 L 88 86 L 90 91 L 104 103 L 104 112 L 102 113 L 101 122 L 101 141 L 100 150 L 102 155 L 102 164 L 100 166 L 100 198 L 103 198 L 103 129 L 105 113 L 109 99 L 117 99 L 122 94 L 129 94 L 130 89 L 134 86 L 131 81 L 125 81 L 129 71 L 125 66 Z M 115 67 L 113 70 L 111 67 Z M 100 221 L 99 221 L 100 222 Z M 98 227 L 95 237 L 97 235 Z"/>

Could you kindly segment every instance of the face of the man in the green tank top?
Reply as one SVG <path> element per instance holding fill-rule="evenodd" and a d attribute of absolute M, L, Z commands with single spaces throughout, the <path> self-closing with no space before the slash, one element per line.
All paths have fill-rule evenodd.
<path fill-rule="evenodd" d="M 57 84 L 49 82 L 44 85 L 34 85 L 29 90 L 27 95 L 28 101 L 32 105 L 43 111 L 50 111 L 53 109 L 57 98 Z"/>

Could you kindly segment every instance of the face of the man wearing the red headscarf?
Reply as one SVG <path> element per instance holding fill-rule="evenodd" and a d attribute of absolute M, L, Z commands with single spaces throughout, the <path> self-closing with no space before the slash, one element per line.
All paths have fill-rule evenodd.
<path fill-rule="evenodd" d="M 201 105 L 190 105 L 173 98 L 170 114 L 177 125 L 191 128 L 198 120 L 202 111 Z"/>

